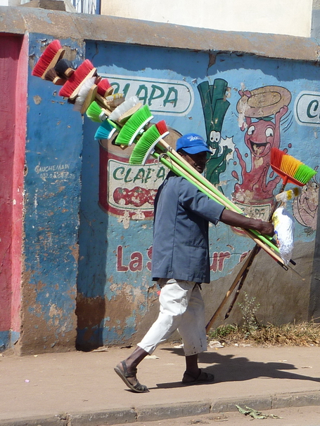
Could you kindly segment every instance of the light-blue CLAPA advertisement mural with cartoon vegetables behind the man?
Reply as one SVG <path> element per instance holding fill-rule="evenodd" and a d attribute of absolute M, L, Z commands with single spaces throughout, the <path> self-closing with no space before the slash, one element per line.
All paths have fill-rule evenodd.
<path fill-rule="evenodd" d="M 204 53 L 90 42 L 86 57 L 115 92 L 136 95 L 148 105 L 153 122 L 165 119 L 170 145 L 182 133 L 206 138 L 211 150 L 207 178 L 245 213 L 268 218 L 279 192 L 271 147 L 313 168 L 320 164 L 320 150 L 313 148 L 320 83 L 311 65 L 218 55 L 208 69 Z M 129 165 L 131 148 L 115 146 L 112 138 L 94 140 L 96 128 L 84 119 L 79 345 L 131 338 L 157 297 L 151 281 L 153 199 L 167 173 L 154 159 L 146 166 Z M 314 179 L 288 204 L 297 219 L 297 241 L 314 239 L 318 192 Z M 250 248 L 250 239 L 235 229 L 212 226 L 212 280 L 229 274 Z"/>

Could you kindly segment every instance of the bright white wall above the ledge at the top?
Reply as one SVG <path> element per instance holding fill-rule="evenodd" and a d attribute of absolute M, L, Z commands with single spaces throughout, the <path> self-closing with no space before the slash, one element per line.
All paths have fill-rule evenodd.
<path fill-rule="evenodd" d="M 101 0 L 101 15 L 309 37 L 312 0 Z"/>

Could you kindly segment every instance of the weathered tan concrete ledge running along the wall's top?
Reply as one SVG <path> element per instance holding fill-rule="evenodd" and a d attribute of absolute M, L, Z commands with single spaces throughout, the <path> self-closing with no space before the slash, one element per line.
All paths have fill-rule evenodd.
<path fill-rule="evenodd" d="M 0 6 L 0 32 L 48 34 L 57 39 L 111 41 L 208 53 L 245 53 L 265 58 L 319 62 L 316 39 L 186 27 L 107 15 Z"/>

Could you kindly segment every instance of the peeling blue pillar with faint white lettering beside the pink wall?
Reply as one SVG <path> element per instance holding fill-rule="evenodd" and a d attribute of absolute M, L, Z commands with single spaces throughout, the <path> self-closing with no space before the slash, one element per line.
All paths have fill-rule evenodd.
<path fill-rule="evenodd" d="M 30 34 L 37 61 L 43 34 Z M 82 48 L 66 41 L 82 62 Z M 32 65 L 32 62 L 30 62 Z M 58 96 L 59 86 L 31 75 L 25 156 L 25 271 L 21 351 L 75 347 L 82 117 Z"/>

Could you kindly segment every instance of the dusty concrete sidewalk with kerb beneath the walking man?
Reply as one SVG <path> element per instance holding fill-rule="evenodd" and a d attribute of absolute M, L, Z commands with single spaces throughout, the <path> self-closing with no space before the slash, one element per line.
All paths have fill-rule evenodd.
<path fill-rule="evenodd" d="M 200 413 L 320 405 L 320 347 L 210 349 L 200 367 L 208 385 L 183 386 L 184 354 L 162 345 L 138 378 L 150 392 L 127 389 L 113 371 L 132 348 L 0 357 L 0 426 L 113 425 Z"/>

